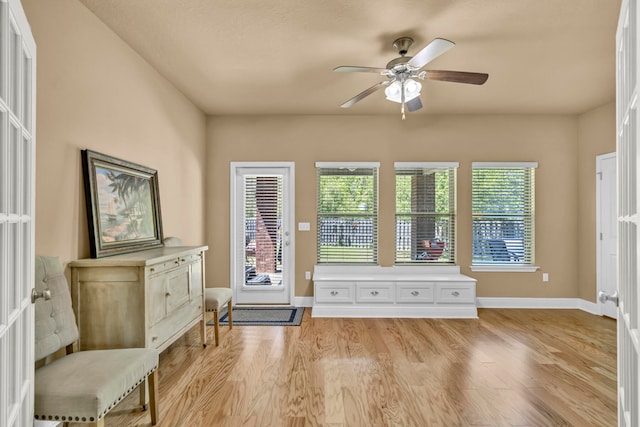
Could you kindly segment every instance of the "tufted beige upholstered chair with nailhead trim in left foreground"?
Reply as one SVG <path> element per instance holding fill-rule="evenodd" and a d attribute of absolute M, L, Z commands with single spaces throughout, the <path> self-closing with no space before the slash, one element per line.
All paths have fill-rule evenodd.
<path fill-rule="evenodd" d="M 151 424 L 157 420 L 155 349 L 129 348 L 73 352 L 78 328 L 69 286 L 58 258 L 36 257 L 35 288 L 46 295 L 35 303 L 35 359 L 66 348 L 35 371 L 35 418 L 104 426 L 105 415 L 145 380 L 149 385 Z M 53 358 L 51 358 L 53 359 Z M 46 361 L 46 360 L 45 360 Z M 146 405 L 143 409 L 147 409 Z"/>

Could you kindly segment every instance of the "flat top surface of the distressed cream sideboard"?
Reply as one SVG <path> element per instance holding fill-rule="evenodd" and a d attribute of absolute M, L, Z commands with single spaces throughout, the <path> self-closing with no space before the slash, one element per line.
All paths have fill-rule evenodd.
<path fill-rule="evenodd" d="M 204 252 L 208 246 L 169 246 L 104 258 L 85 258 L 69 263 L 70 267 L 144 266 L 169 261 L 175 257 Z"/>

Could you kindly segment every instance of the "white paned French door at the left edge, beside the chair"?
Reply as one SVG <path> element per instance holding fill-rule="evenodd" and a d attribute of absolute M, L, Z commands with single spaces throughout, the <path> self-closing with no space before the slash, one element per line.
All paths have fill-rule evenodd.
<path fill-rule="evenodd" d="M 0 427 L 33 424 L 36 45 L 0 0 Z"/>

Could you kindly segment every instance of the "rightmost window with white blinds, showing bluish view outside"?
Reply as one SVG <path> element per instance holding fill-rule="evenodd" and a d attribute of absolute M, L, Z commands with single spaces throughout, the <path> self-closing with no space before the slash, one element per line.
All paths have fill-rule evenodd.
<path fill-rule="evenodd" d="M 533 266 L 537 163 L 472 164 L 472 264 Z"/>

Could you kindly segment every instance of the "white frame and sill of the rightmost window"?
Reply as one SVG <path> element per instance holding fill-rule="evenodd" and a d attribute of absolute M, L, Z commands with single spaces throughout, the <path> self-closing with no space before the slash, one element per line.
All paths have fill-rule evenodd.
<path fill-rule="evenodd" d="M 471 164 L 471 271 L 490 271 L 490 272 L 535 272 L 538 270 L 538 266 L 535 265 L 535 170 L 538 167 L 537 162 L 473 162 Z M 531 181 L 529 182 L 529 187 L 524 189 L 529 193 L 529 199 L 527 201 L 527 209 L 529 211 L 528 214 L 524 213 L 521 215 L 513 215 L 515 217 L 525 216 L 528 218 L 529 224 L 524 224 L 525 227 L 525 241 L 523 242 L 523 257 L 529 258 L 530 261 L 522 262 L 522 263 L 505 263 L 505 262 L 493 262 L 493 261 L 485 261 L 485 262 L 477 262 L 474 260 L 474 218 L 479 215 L 479 213 L 474 212 L 474 204 L 473 204 L 473 195 L 476 191 L 476 184 L 474 182 L 474 173 L 475 169 L 526 169 L 531 172 Z M 480 213 L 480 215 L 483 215 Z M 525 220 L 527 221 L 527 220 Z M 527 241 L 526 234 L 528 233 L 529 238 Z"/>

